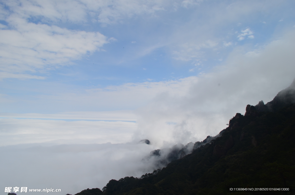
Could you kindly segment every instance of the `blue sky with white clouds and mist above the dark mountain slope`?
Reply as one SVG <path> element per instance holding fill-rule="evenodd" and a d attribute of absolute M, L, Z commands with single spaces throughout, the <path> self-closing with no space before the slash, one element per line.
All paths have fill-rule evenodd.
<path fill-rule="evenodd" d="M 294 8 L 0 1 L 0 188 L 102 188 L 152 172 L 154 149 L 217 135 L 294 80 Z"/>

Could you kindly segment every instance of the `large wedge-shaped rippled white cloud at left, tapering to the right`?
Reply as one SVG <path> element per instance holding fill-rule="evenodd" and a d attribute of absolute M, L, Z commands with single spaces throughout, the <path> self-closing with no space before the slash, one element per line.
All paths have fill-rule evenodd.
<path fill-rule="evenodd" d="M 24 73 L 44 72 L 69 64 L 107 43 L 99 32 L 27 23 L 19 18 L 11 20 L 10 25 L 15 29 L 0 30 L 0 70 L 5 77 L 42 78 Z"/>

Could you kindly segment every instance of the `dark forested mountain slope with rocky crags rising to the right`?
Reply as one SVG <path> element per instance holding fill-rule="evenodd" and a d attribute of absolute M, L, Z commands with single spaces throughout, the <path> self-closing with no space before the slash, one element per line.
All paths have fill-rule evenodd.
<path fill-rule="evenodd" d="M 76 195 L 295 194 L 295 82 L 269 103 L 247 105 L 191 154 L 140 178 L 110 180 Z M 289 191 L 230 191 L 289 188 Z"/>

